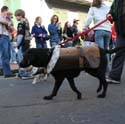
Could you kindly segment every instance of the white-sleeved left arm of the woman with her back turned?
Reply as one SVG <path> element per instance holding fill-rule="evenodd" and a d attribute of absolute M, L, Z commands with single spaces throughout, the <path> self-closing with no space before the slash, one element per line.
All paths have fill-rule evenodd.
<path fill-rule="evenodd" d="M 83 29 L 86 29 L 89 27 L 89 25 L 91 24 L 93 20 L 93 16 L 94 16 L 93 9 L 92 7 L 90 7 Z"/>

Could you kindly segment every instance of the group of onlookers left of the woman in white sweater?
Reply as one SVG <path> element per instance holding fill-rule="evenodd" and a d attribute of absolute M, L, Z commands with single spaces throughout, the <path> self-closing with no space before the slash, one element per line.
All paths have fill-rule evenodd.
<path fill-rule="evenodd" d="M 10 63 L 19 64 L 27 49 L 30 48 L 30 41 L 35 39 L 36 48 L 47 48 L 46 41 L 50 41 L 50 46 L 54 47 L 59 44 L 63 39 L 73 37 L 78 33 L 78 21 L 73 20 L 71 26 L 66 22 L 64 30 L 59 22 L 59 17 L 53 15 L 48 25 L 48 30 L 42 23 L 40 16 L 36 17 L 34 25 L 31 28 L 28 19 L 25 17 L 25 11 L 18 9 L 14 13 L 18 21 L 17 29 L 14 29 L 13 15 L 9 12 L 7 6 L 1 8 L 0 15 L 0 73 L 5 78 L 15 77 L 10 68 Z M 65 47 L 72 47 L 79 43 L 79 39 L 65 44 Z M 18 76 L 22 79 L 32 78 L 31 72 L 24 68 L 19 67 Z"/>

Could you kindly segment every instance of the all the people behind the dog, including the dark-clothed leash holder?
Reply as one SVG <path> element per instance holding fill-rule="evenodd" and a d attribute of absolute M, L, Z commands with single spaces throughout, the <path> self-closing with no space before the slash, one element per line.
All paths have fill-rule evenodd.
<path fill-rule="evenodd" d="M 103 49 L 124 46 L 125 32 L 122 30 L 125 27 L 124 1 L 114 0 L 112 6 L 109 7 L 106 5 L 105 0 L 93 0 L 83 24 L 83 31 L 90 28 L 92 21 L 96 25 L 109 15 L 113 18 L 112 22 L 107 21 L 103 23 L 81 38 L 67 42 L 64 44 L 64 47 L 79 46 L 81 45 L 81 39 L 84 40 L 84 43 L 82 43 L 84 45 L 91 45 L 94 42 Z M 0 71 L 3 72 L 5 78 L 15 76 L 10 69 L 10 63 L 19 64 L 22 61 L 25 51 L 30 48 L 32 38 L 35 38 L 36 48 L 47 48 L 47 40 L 49 40 L 50 46 L 54 47 L 61 41 L 76 36 L 79 33 L 78 24 L 80 20 L 78 19 L 73 20 L 73 25 L 67 21 L 64 28 L 62 28 L 58 15 L 53 15 L 50 19 L 48 29 L 46 29 L 42 18 L 38 16 L 30 32 L 29 22 L 25 17 L 24 10 L 18 9 L 15 11 L 15 17 L 18 21 L 16 30 L 13 27 L 12 17 L 9 8 L 3 6 L 0 15 Z M 107 56 L 107 58 L 110 61 L 110 57 Z M 120 53 L 116 53 L 113 59 L 111 71 L 109 64 L 107 65 L 107 81 L 120 83 L 123 64 L 124 52 L 120 51 Z M 18 76 L 22 79 L 32 78 L 32 74 L 29 71 L 20 67 Z"/>

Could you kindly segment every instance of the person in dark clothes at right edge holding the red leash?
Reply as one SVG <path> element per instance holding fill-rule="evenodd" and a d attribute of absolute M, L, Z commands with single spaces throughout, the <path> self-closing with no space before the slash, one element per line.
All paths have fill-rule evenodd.
<path fill-rule="evenodd" d="M 115 22 L 115 31 L 117 34 L 116 47 L 125 46 L 125 0 L 114 0 L 109 15 L 112 16 Z M 115 57 L 112 62 L 109 83 L 120 84 L 121 75 L 123 71 L 125 61 L 125 51 L 121 50 L 116 52 Z"/>

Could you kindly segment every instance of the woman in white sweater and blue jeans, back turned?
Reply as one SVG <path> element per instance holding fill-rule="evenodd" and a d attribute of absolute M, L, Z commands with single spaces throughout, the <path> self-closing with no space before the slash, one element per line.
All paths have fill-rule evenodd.
<path fill-rule="evenodd" d="M 83 30 L 87 29 L 91 22 L 94 22 L 94 25 L 100 23 L 106 19 L 107 14 L 109 13 L 110 7 L 107 6 L 105 0 L 93 0 L 92 6 L 89 9 L 87 19 L 84 23 Z M 100 48 L 108 49 L 109 43 L 111 40 L 111 23 L 106 21 L 97 28 L 94 29 L 94 41 Z M 107 55 L 109 60 L 109 56 Z M 109 76 L 109 65 L 107 65 L 106 78 Z"/>

